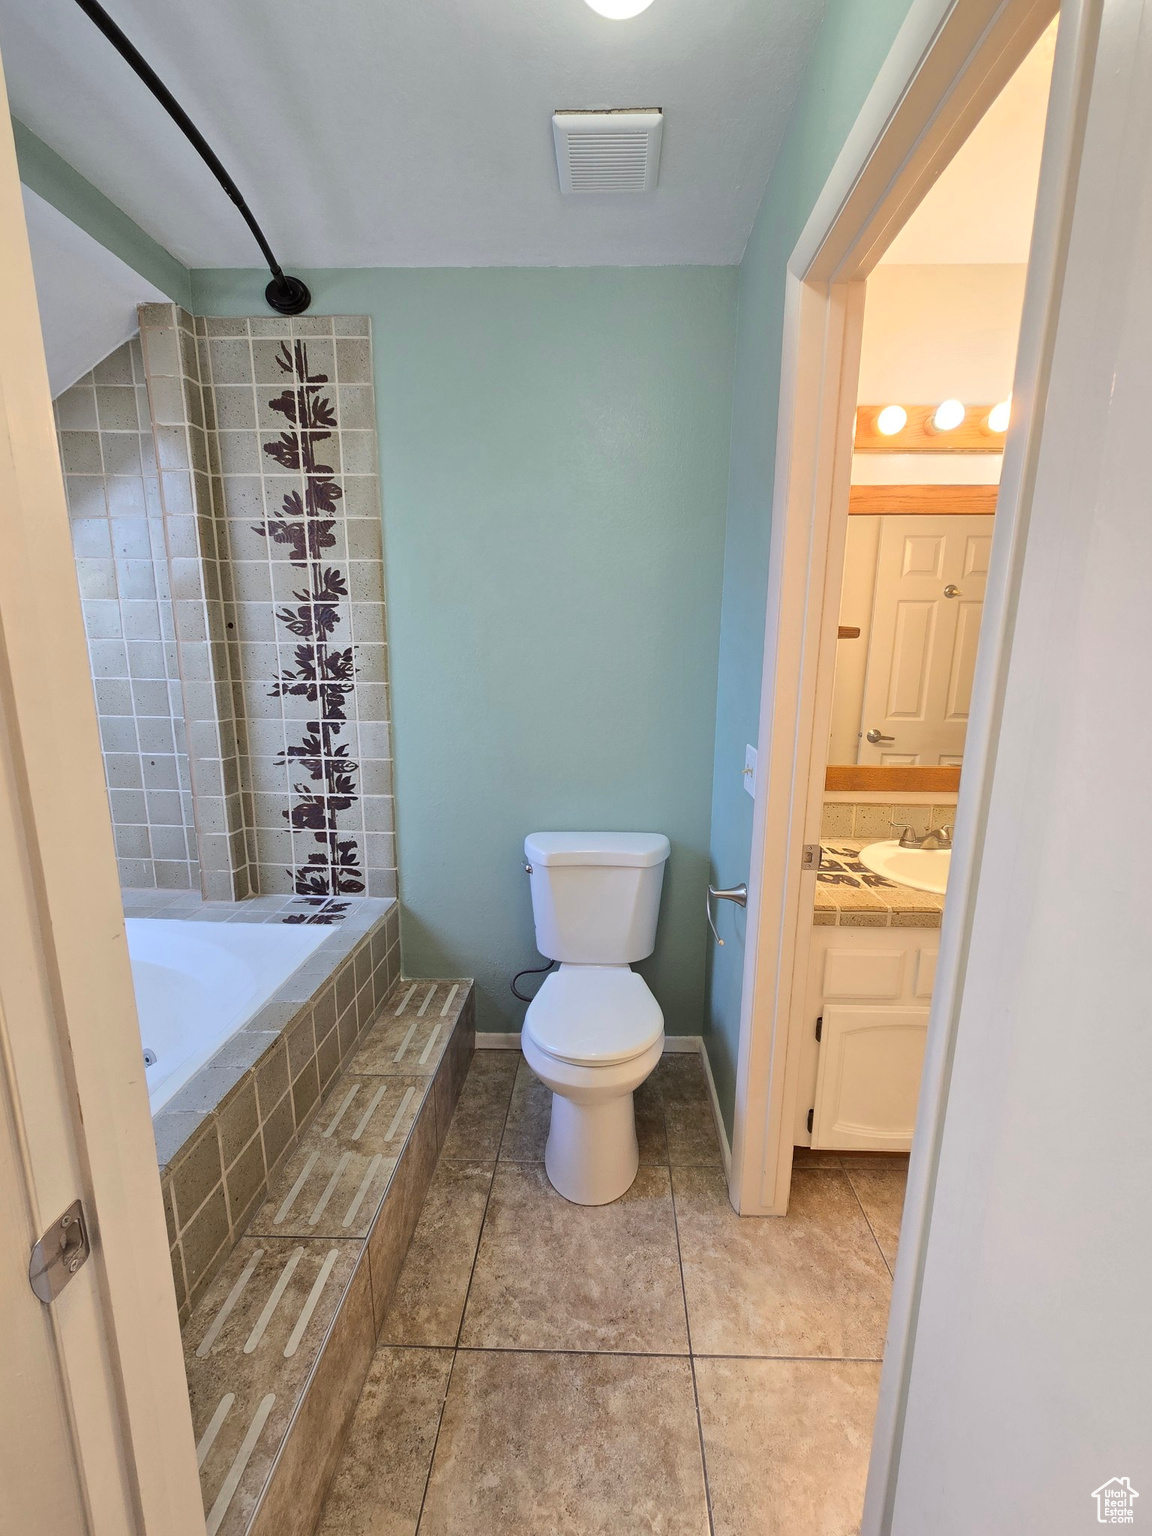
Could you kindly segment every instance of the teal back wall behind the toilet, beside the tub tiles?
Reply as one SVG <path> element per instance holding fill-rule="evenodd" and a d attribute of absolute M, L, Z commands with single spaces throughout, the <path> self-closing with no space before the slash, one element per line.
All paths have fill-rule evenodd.
<path fill-rule="evenodd" d="M 641 969 L 699 1034 L 734 269 L 301 275 L 373 319 L 407 972 L 519 1028 L 524 834 L 664 831 Z M 195 272 L 192 307 L 263 289 Z"/>

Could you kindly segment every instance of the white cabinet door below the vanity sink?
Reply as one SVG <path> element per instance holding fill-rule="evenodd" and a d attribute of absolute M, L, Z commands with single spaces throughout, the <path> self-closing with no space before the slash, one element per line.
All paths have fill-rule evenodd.
<path fill-rule="evenodd" d="M 906 1152 L 926 1034 L 926 1008 L 825 1006 L 813 1146 Z"/>

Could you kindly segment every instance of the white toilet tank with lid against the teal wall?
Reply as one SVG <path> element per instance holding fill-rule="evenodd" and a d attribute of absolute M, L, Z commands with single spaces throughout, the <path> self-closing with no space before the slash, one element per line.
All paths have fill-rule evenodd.
<path fill-rule="evenodd" d="M 631 965 L 656 946 L 662 833 L 531 833 L 536 948 L 564 965 Z"/>

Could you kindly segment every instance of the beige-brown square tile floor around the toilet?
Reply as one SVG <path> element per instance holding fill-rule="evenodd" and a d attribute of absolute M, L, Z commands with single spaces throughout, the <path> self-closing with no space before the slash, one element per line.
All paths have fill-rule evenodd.
<path fill-rule="evenodd" d="M 739 1218 L 668 1055 L 636 1183 L 571 1206 L 548 1109 L 476 1052 L 316 1536 L 849 1536 L 905 1160 L 800 1157 L 790 1215 Z"/>

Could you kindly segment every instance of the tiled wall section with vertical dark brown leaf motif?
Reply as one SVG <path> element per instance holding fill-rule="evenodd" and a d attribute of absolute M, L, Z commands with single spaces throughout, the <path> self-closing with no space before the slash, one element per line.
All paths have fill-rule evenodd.
<path fill-rule="evenodd" d="M 195 329 L 253 889 L 395 895 L 370 323 Z"/>

